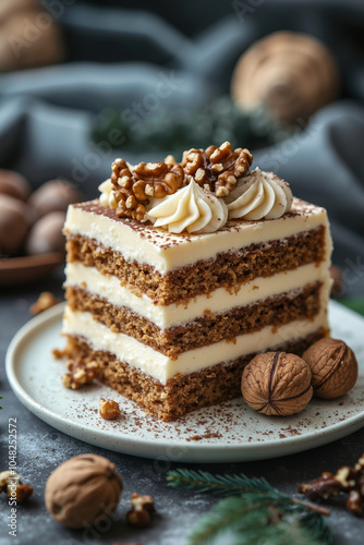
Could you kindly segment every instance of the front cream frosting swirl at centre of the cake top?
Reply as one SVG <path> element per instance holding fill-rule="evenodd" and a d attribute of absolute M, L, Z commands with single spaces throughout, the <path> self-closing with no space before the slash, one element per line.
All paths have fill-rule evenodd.
<path fill-rule="evenodd" d="M 155 227 L 171 233 L 211 233 L 228 219 L 228 208 L 221 198 L 206 193 L 191 179 L 189 185 L 165 197 L 147 214 Z"/>

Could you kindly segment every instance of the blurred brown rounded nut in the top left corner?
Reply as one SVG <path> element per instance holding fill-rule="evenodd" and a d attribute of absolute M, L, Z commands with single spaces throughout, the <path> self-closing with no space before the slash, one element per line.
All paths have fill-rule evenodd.
<path fill-rule="evenodd" d="M 54 64 L 64 58 L 62 35 L 38 0 L 1 0 L 0 71 Z"/>

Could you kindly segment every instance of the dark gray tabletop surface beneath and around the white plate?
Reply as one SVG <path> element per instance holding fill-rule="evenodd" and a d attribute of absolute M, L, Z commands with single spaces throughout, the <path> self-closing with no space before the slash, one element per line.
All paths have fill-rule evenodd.
<path fill-rule="evenodd" d="M 34 495 L 17 507 L 17 538 L 8 535 L 9 506 L 4 495 L 0 496 L 0 545 L 11 543 L 65 545 L 102 543 L 112 544 L 138 542 L 141 545 L 186 544 L 191 526 L 213 506 L 217 499 L 208 495 L 195 496 L 167 487 L 166 474 L 171 464 L 166 460 L 147 460 L 119 455 L 101 448 L 88 446 L 73 439 L 43 423 L 27 411 L 9 388 L 4 374 L 4 356 L 8 344 L 19 328 L 29 319 L 29 305 L 40 291 L 51 290 L 61 295 L 62 271 L 36 283 L 1 289 L 0 298 L 0 392 L 4 396 L 0 413 L 0 470 L 8 463 L 8 420 L 16 419 L 17 424 L 17 469 L 26 482 L 34 486 Z M 295 494 L 296 486 L 318 476 L 323 471 L 336 471 L 340 465 L 353 464 L 364 450 L 364 429 L 331 445 L 307 452 L 274 460 L 232 463 L 199 464 L 195 469 L 222 472 L 245 472 L 247 475 L 265 476 L 279 489 Z M 54 522 L 44 505 L 44 489 L 51 471 L 69 458 L 95 452 L 111 459 L 123 477 L 124 491 L 117 520 L 109 531 L 71 531 Z M 129 508 L 131 494 L 137 491 L 151 494 L 157 506 L 157 514 L 150 526 L 144 530 L 129 528 L 124 514 Z M 354 518 L 342 502 L 332 506 L 330 522 L 336 529 L 336 545 L 363 543 L 363 520 Z M 227 540 L 221 541 L 228 545 Z"/>

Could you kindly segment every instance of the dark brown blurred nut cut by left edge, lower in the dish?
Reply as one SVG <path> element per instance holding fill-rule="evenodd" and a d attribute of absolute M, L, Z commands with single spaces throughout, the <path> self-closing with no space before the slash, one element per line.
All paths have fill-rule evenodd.
<path fill-rule="evenodd" d="M 0 252 L 15 254 L 31 227 L 27 206 L 17 198 L 0 194 Z"/>

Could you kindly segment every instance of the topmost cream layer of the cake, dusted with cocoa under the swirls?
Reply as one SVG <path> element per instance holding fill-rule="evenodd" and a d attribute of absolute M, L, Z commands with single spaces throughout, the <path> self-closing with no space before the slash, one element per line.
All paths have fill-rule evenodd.
<path fill-rule="evenodd" d="M 293 199 L 292 210 L 300 209 L 300 202 Z M 279 219 L 241 221 L 214 233 L 173 234 L 161 228 L 145 227 L 144 231 L 133 229 L 128 221 L 118 221 L 93 211 L 71 205 L 64 225 L 68 235 L 83 235 L 95 239 L 99 244 L 120 252 L 123 257 L 144 263 L 166 274 L 179 267 L 192 265 L 201 259 L 210 259 L 221 252 L 234 252 L 253 243 L 281 240 L 303 231 L 327 226 L 327 256 L 331 252 L 327 214 L 318 206 L 305 205 L 306 213 Z"/>

